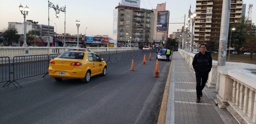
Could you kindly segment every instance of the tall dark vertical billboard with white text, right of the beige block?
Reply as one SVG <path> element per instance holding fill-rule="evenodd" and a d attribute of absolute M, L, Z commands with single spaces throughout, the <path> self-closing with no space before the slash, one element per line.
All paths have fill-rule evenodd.
<path fill-rule="evenodd" d="M 168 11 L 158 11 L 156 30 L 167 31 Z"/>

